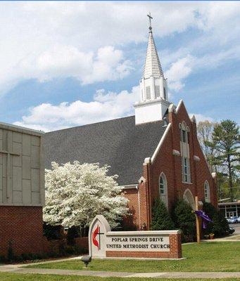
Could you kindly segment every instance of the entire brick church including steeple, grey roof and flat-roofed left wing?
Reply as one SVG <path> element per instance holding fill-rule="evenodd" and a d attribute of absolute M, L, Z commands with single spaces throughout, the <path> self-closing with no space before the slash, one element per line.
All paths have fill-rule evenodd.
<path fill-rule="evenodd" d="M 196 195 L 200 204 L 216 206 L 215 178 L 198 143 L 196 119 L 189 118 L 182 100 L 177 107 L 168 100 L 151 26 L 134 108 L 134 116 L 44 135 L 0 124 L 0 255 L 9 247 L 16 255 L 44 250 L 44 168 L 53 161 L 108 164 L 110 174 L 119 176 L 137 228 L 149 229 L 156 197 L 168 209 L 177 198 L 194 207 Z"/>

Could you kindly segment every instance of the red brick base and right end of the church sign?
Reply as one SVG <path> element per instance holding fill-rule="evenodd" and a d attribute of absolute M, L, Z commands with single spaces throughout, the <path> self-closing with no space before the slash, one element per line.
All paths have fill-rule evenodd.
<path fill-rule="evenodd" d="M 170 251 L 106 251 L 106 257 L 180 259 L 182 258 L 181 234 L 170 235 Z"/>

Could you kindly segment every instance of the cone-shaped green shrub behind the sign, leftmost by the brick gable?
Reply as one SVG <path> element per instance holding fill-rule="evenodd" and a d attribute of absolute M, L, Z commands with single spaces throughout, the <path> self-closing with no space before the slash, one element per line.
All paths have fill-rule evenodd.
<path fill-rule="evenodd" d="M 153 203 L 152 217 L 151 230 L 174 229 L 174 224 L 168 214 L 168 209 L 159 198 L 157 198 Z"/>

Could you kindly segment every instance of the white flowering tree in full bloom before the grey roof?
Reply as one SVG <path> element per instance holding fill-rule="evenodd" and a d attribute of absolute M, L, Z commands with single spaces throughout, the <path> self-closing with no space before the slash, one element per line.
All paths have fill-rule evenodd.
<path fill-rule="evenodd" d="M 46 170 L 46 206 L 44 221 L 51 225 L 89 226 L 94 216 L 102 214 L 110 226 L 127 214 L 128 200 L 121 195 L 115 181 L 107 176 L 109 166 L 80 164 L 75 161 L 59 165 L 52 162 Z"/>

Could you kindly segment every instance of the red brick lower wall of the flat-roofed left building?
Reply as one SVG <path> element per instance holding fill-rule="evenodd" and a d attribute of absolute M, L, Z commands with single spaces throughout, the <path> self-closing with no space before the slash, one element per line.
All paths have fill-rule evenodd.
<path fill-rule="evenodd" d="M 0 255 L 42 252 L 42 207 L 0 206 Z"/>

